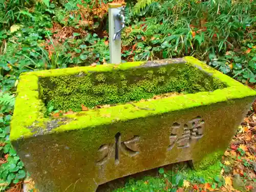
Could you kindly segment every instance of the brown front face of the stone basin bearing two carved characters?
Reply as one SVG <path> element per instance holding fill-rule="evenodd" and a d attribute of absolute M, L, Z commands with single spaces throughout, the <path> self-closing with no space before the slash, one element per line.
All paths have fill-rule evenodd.
<path fill-rule="evenodd" d="M 40 192 L 92 192 L 105 182 L 170 163 L 193 160 L 195 167 L 208 166 L 212 154 L 224 153 L 253 98 L 12 144 Z"/>

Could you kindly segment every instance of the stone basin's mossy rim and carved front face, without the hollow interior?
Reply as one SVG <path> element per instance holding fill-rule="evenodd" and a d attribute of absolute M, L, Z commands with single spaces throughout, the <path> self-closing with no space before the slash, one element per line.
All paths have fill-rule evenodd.
<path fill-rule="evenodd" d="M 227 88 L 48 119 L 42 114 L 39 77 L 86 74 L 103 67 L 24 74 L 10 138 L 40 192 L 91 192 L 147 169 L 186 160 L 204 168 L 221 156 L 256 94 L 194 58 L 184 60 Z"/>

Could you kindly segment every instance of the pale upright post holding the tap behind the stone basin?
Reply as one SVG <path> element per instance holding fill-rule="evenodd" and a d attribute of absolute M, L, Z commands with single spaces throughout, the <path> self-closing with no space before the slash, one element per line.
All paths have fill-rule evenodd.
<path fill-rule="evenodd" d="M 115 40 L 113 40 L 115 32 L 119 30 L 116 29 L 117 25 L 115 25 L 114 17 L 119 14 L 122 4 L 109 3 L 108 6 L 110 63 L 118 64 L 121 62 L 121 38 L 116 38 Z"/>

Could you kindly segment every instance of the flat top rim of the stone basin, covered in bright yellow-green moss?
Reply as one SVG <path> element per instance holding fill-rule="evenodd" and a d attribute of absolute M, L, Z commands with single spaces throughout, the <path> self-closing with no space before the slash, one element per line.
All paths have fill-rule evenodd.
<path fill-rule="evenodd" d="M 162 64 L 156 64 L 157 62 L 162 62 Z M 204 73 L 211 75 L 214 78 L 218 78 L 219 80 L 224 82 L 227 88 L 218 89 L 213 92 L 198 92 L 195 94 L 177 95 L 171 98 L 162 98 L 158 100 L 134 103 L 139 109 L 155 109 L 154 111 L 138 110 L 130 103 L 125 103 L 117 106 L 111 106 L 110 108 L 102 108 L 97 110 L 91 110 L 88 112 L 78 112 L 76 114 L 66 116 L 67 118 L 71 118 L 74 121 L 67 124 L 62 124 L 59 127 L 52 129 L 49 133 L 79 130 L 85 129 L 87 127 L 92 128 L 101 124 L 110 124 L 116 121 L 125 121 L 127 119 L 141 118 L 148 115 L 167 113 L 170 111 L 177 111 L 181 109 L 194 108 L 196 106 L 223 102 L 229 99 L 239 99 L 256 95 L 256 92 L 249 87 L 246 87 L 242 83 L 232 79 L 231 77 L 224 75 L 215 69 L 212 69 L 211 67 L 195 59 L 194 57 L 164 59 L 160 61 L 148 62 L 129 62 L 129 65 L 131 65 L 132 67 L 152 67 L 154 65 L 163 65 L 163 63 L 166 62 L 167 64 L 189 62 L 191 65 L 200 69 Z M 111 71 L 115 69 L 125 70 L 126 64 L 127 63 L 122 63 L 120 65 L 108 64 L 105 66 L 101 65 L 97 67 L 76 67 L 23 73 L 21 75 L 21 80 L 17 88 L 17 100 L 20 102 L 31 101 L 32 103 L 28 103 L 26 109 L 15 109 L 13 119 L 11 121 L 12 132 L 10 135 L 10 139 L 17 140 L 19 138 L 31 137 L 33 136 L 33 134 L 31 134 L 31 130 L 28 128 L 29 126 L 33 125 L 35 121 L 39 121 L 41 123 L 49 121 L 49 118 L 45 118 L 40 112 L 41 100 L 39 99 L 39 85 L 37 83 L 38 78 L 59 75 L 72 75 L 79 72 L 89 73 L 92 71 Z M 33 83 L 31 81 L 35 82 Z M 24 113 L 24 111 L 26 111 L 27 113 Z M 118 114 L 118 116 L 113 115 L 109 117 L 109 114 Z M 20 119 L 20 116 L 22 116 L 23 118 Z M 94 117 L 93 119 L 91 118 L 92 116 Z"/>

